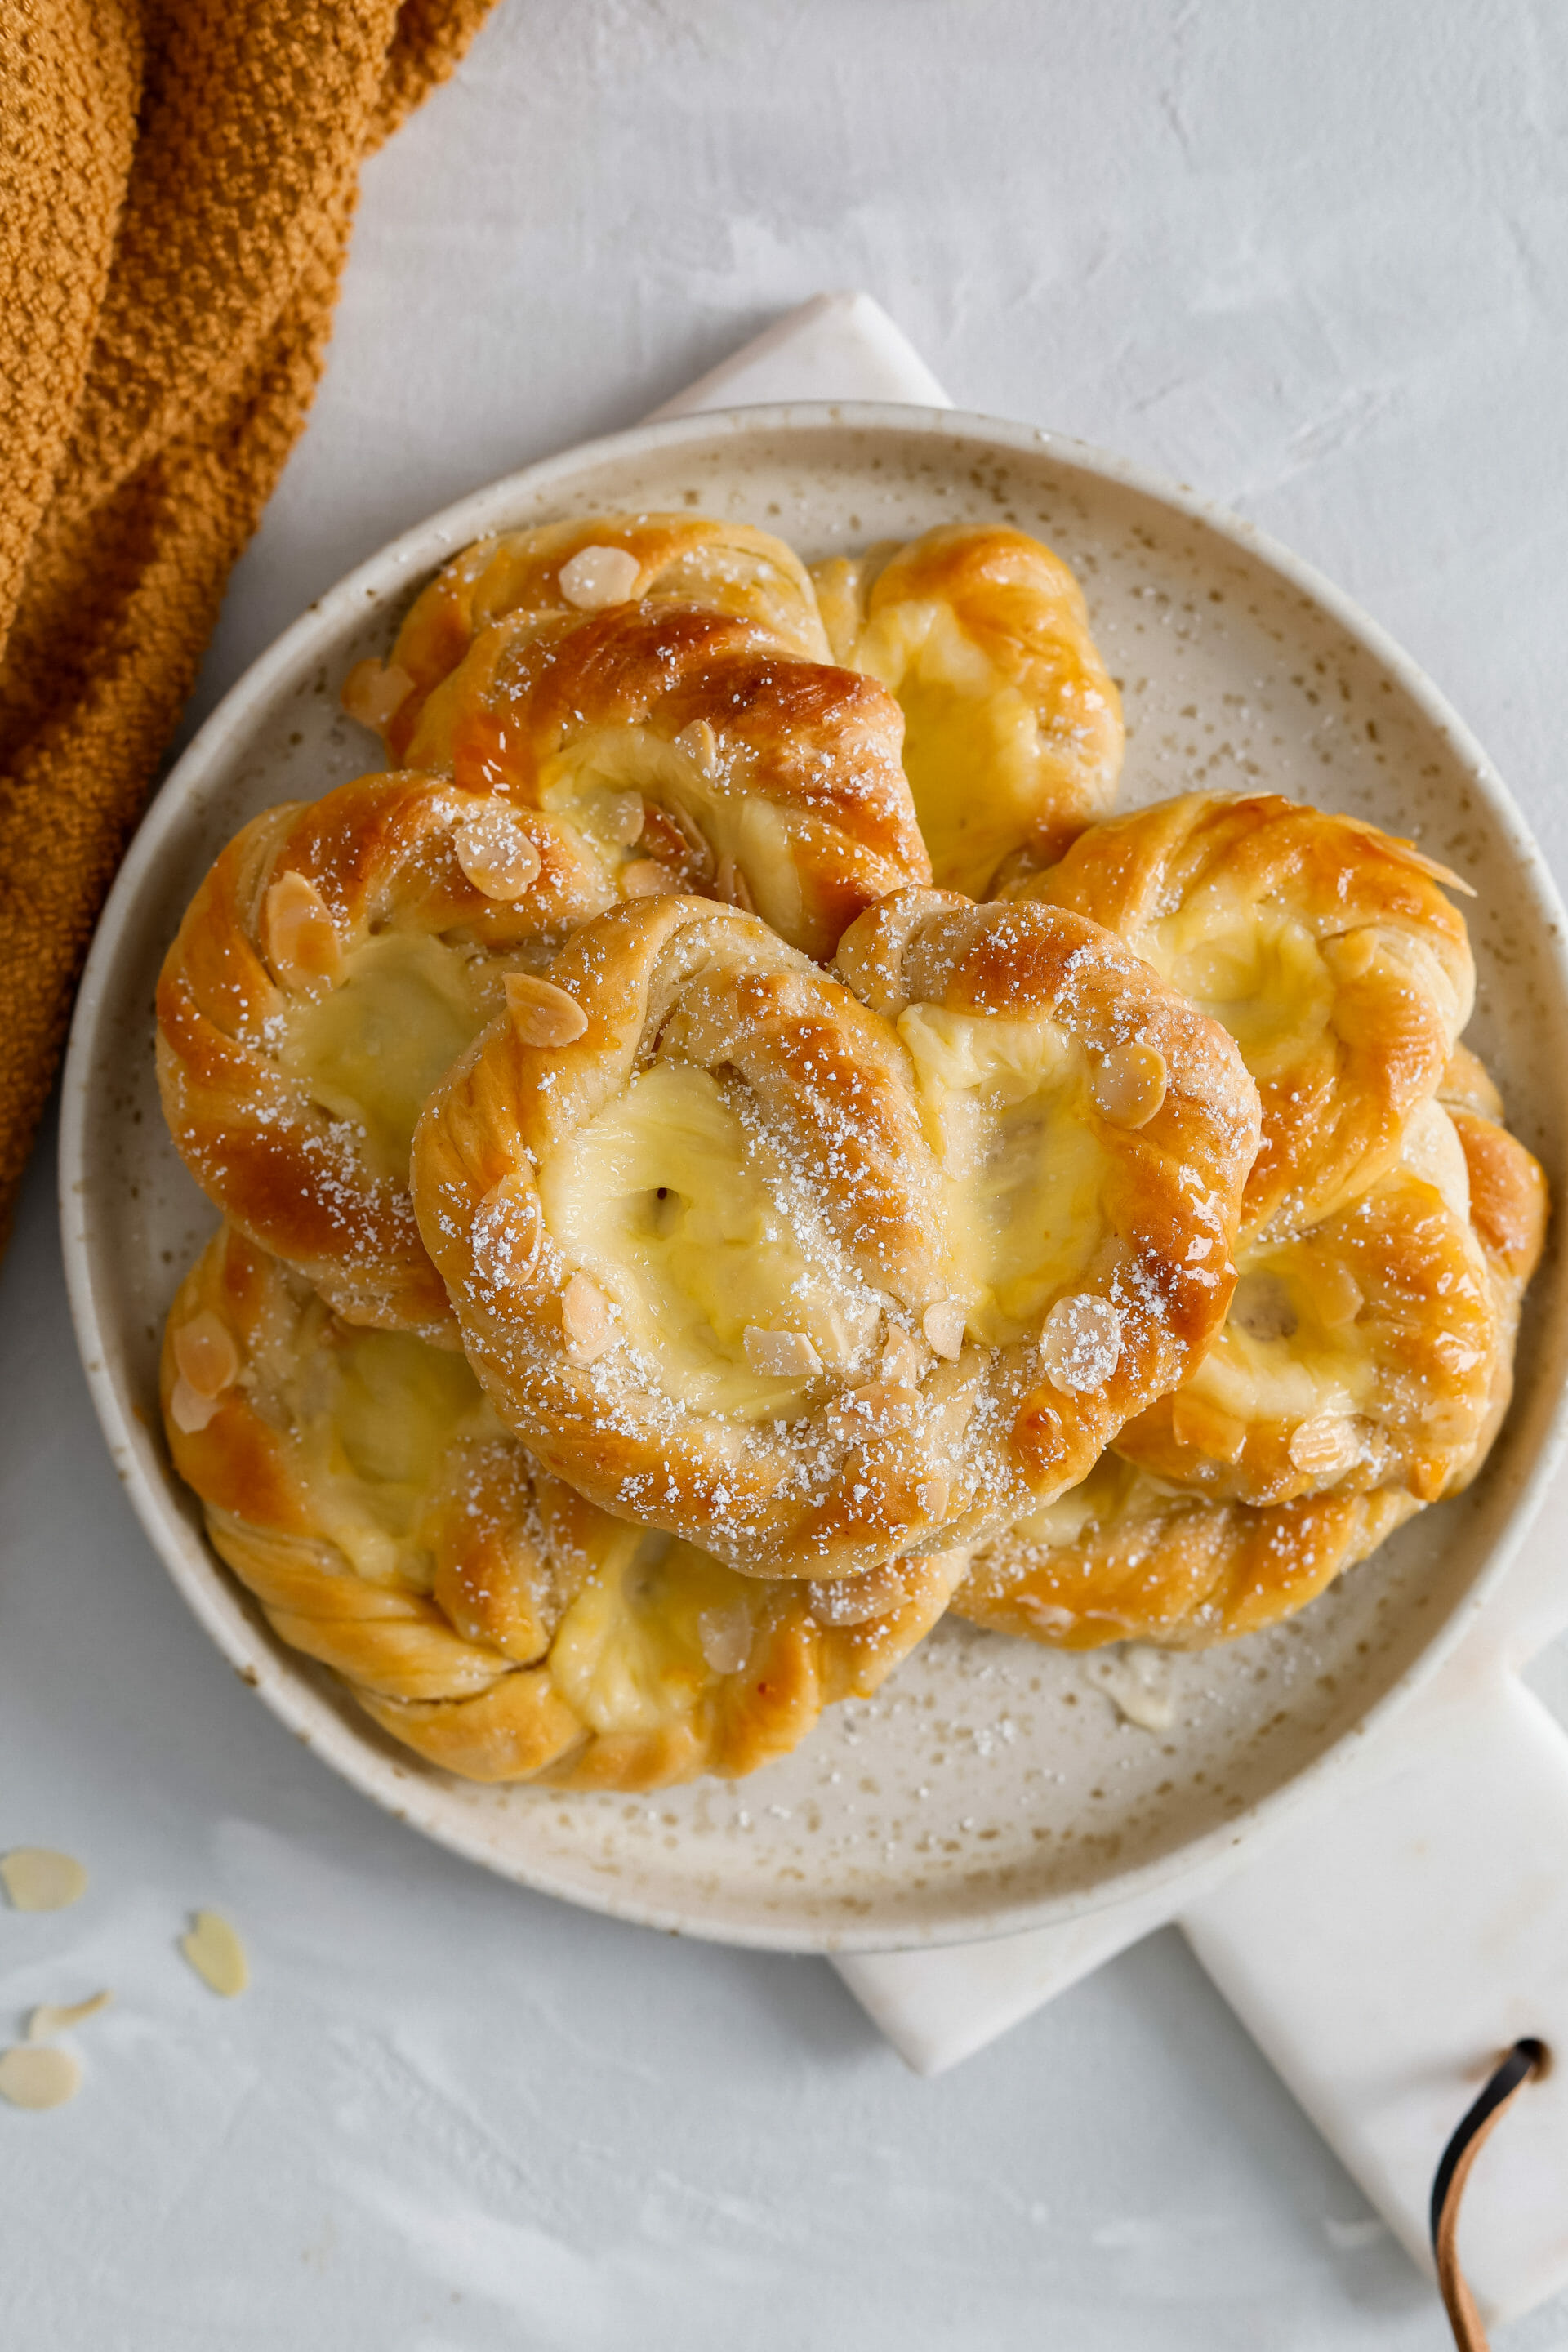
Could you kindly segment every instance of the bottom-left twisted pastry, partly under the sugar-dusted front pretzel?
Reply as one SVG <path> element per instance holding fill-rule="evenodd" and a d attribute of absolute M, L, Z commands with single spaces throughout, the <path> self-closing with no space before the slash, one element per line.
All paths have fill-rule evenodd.
<path fill-rule="evenodd" d="M 216 1392 L 190 1390 L 186 1364 Z M 900 1562 L 846 1597 L 649 1541 L 550 1479 L 461 1357 L 341 1322 L 233 1228 L 179 1291 L 162 1404 L 207 1531 L 273 1630 L 475 1780 L 755 1771 L 823 1705 L 870 1696 L 961 1573 L 961 1555 Z"/>

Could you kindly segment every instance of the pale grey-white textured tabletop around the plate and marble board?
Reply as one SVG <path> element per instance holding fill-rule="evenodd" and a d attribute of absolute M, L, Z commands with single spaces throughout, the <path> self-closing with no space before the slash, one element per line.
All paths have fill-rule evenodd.
<path fill-rule="evenodd" d="M 503 0 L 381 155 L 202 708 L 404 522 L 630 423 L 820 287 L 954 400 L 1225 499 L 1359 595 L 1568 873 L 1568 12 Z M 910 2079 L 818 1962 L 425 1849 L 233 1682 L 125 1510 L 40 1160 L 0 1296 L 0 2110 L 26 2352 L 1439 2352 L 1434 2298 L 1173 1936 Z M 1568 1715 L 1568 1661 L 1537 1686 Z M 183 1912 L 242 1926 L 219 2004 Z M 1568 2305 L 1497 2352 L 1559 2352 Z"/>

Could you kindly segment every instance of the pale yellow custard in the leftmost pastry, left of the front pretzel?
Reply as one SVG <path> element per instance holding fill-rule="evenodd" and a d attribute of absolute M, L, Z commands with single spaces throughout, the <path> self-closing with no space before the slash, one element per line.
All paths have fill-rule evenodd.
<path fill-rule="evenodd" d="M 383 931 L 343 960 L 336 988 L 299 1000 L 282 1068 L 334 1120 L 362 1129 L 376 1176 L 407 1183 L 421 1110 L 498 1002 L 498 978 L 461 948 Z"/>

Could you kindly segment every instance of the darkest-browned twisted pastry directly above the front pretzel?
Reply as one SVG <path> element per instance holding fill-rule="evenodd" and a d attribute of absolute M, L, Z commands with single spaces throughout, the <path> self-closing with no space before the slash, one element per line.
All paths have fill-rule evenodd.
<path fill-rule="evenodd" d="M 618 894 L 698 891 L 827 960 L 931 866 L 898 703 L 750 621 L 684 604 L 491 623 L 435 689 L 414 767 L 578 826 Z"/>

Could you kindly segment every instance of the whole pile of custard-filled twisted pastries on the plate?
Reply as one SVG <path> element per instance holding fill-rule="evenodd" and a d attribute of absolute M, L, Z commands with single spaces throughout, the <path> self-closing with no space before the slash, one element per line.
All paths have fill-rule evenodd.
<path fill-rule="evenodd" d="M 223 1223 L 174 1463 L 275 1632 L 477 1780 L 745 1773 L 947 1611 L 1199 1646 L 1455 1494 L 1544 1230 L 1453 875 L 1107 816 L 1070 569 L 484 541 L 158 990 Z"/>

